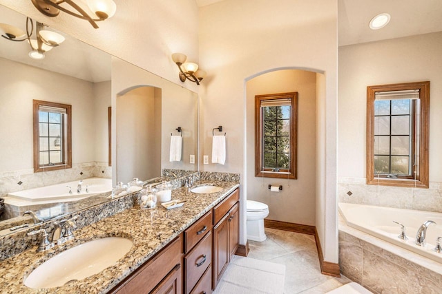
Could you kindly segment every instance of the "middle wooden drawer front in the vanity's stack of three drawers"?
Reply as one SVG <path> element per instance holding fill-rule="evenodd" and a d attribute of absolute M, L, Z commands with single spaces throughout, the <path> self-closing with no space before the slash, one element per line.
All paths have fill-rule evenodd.
<path fill-rule="evenodd" d="M 212 261 L 212 233 L 206 233 L 201 242 L 184 258 L 186 293 L 192 291 Z"/>

